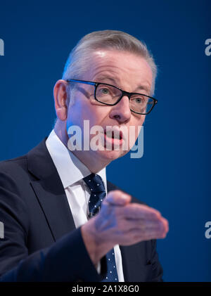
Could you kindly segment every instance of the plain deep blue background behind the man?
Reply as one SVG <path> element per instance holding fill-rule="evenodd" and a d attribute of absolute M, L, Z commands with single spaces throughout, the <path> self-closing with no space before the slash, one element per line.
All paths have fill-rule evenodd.
<path fill-rule="evenodd" d="M 0 159 L 27 153 L 56 118 L 53 85 L 68 53 L 94 30 L 146 42 L 158 64 L 158 98 L 144 124 L 144 154 L 108 166 L 108 179 L 160 210 L 165 281 L 211 281 L 210 1 L 1 1 Z"/>

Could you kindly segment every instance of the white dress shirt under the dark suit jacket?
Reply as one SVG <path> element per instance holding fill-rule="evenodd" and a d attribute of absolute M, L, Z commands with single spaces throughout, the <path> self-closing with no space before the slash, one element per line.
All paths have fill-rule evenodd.
<path fill-rule="evenodd" d="M 54 130 L 51 131 L 51 134 L 49 134 L 46 140 L 46 147 L 49 150 L 65 189 L 75 227 L 78 228 L 88 221 L 88 202 L 91 192 L 83 178 L 89 176 L 91 172 L 70 150 L 68 150 L 63 142 L 60 141 Z M 101 176 L 107 193 L 106 168 L 101 169 L 97 174 Z M 118 278 L 120 282 L 124 282 L 122 256 L 119 245 L 114 246 L 114 251 Z M 98 273 L 100 273 L 100 263 L 98 264 L 97 270 Z"/>

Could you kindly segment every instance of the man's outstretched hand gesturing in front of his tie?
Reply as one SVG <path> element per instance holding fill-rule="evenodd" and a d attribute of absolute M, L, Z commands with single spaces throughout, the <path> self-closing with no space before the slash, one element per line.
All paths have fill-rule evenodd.
<path fill-rule="evenodd" d="M 114 247 L 165 238 L 168 221 L 147 205 L 131 203 L 131 196 L 110 191 L 101 210 L 82 226 L 82 237 L 94 264 Z"/>

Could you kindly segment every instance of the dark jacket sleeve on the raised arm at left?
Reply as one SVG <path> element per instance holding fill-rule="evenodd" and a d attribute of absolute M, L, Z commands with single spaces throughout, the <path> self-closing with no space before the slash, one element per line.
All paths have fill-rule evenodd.
<path fill-rule="evenodd" d="M 0 281 L 101 281 L 82 239 L 75 229 L 51 247 L 28 255 L 27 232 L 30 222 L 20 188 L 7 173 L 0 173 Z M 88 272 L 87 272 L 88 271 Z"/>

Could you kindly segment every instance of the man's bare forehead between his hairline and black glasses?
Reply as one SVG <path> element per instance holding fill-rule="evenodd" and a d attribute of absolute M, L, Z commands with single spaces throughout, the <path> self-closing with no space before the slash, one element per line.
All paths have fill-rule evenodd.
<path fill-rule="evenodd" d="M 122 89 L 134 91 L 143 86 L 148 91 L 152 85 L 152 71 L 147 61 L 126 51 L 98 50 L 92 53 L 86 79 L 117 84 Z"/>

